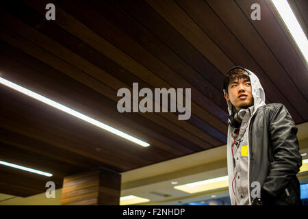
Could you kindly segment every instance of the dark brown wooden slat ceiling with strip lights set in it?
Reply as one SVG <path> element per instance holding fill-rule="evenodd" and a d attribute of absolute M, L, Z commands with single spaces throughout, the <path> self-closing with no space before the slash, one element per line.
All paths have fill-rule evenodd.
<path fill-rule="evenodd" d="M 45 5 L 55 4 L 55 21 Z M 251 5 L 261 5 L 261 21 Z M 292 0 L 307 34 L 307 1 Z M 5 86 L 0 159 L 53 172 L 46 179 L 0 166 L 0 193 L 29 196 L 47 181 L 104 166 L 118 172 L 225 144 L 224 74 L 257 74 L 266 103 L 308 120 L 307 63 L 270 1 L 5 1 L 1 77 L 149 142 L 143 148 Z M 117 111 L 120 88 L 191 88 L 192 116 Z"/>

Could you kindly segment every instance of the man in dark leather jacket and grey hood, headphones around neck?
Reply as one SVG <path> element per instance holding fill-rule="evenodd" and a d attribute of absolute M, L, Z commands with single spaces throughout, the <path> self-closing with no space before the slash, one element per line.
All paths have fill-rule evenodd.
<path fill-rule="evenodd" d="M 227 162 L 232 205 L 301 205 L 296 174 L 302 164 L 297 128 L 285 106 L 265 103 L 250 70 L 224 78 L 229 111 Z"/>

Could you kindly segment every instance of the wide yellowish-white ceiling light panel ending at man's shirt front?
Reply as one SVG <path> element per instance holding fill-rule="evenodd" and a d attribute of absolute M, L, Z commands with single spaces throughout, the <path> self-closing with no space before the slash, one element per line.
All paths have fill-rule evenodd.
<path fill-rule="evenodd" d="M 177 185 L 174 188 L 188 193 L 205 192 L 228 187 L 228 176 L 207 179 L 195 183 Z"/>

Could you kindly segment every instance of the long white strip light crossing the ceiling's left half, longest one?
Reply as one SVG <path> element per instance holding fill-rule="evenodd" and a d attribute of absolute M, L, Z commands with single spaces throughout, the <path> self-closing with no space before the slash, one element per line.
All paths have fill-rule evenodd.
<path fill-rule="evenodd" d="M 139 144 L 141 146 L 150 146 L 150 144 L 139 140 L 138 138 L 134 138 L 133 136 L 129 136 L 127 133 L 124 133 L 123 131 L 119 131 L 118 129 L 114 129 L 113 127 L 110 127 L 109 125 L 106 125 L 104 123 L 99 122 L 98 120 L 94 120 L 93 118 L 90 118 L 89 116 L 86 116 L 84 114 L 81 114 L 75 110 L 72 110 L 65 105 L 62 105 L 60 103 L 57 103 L 55 101 L 52 101 L 51 99 L 48 99 L 40 94 L 37 94 L 36 92 L 32 92 L 31 90 L 28 90 L 26 88 L 23 88 L 21 86 L 18 86 L 16 83 L 12 83 L 11 81 L 8 81 L 6 79 L 3 79 L 0 77 L 0 83 L 2 83 L 5 86 L 8 86 L 14 90 L 17 90 L 18 92 L 21 92 L 23 94 L 26 94 L 27 96 L 31 96 L 32 98 L 41 101 L 42 103 L 46 103 L 47 105 L 51 105 L 52 107 L 55 107 L 58 110 L 62 110 L 63 112 L 66 112 L 67 114 L 70 114 L 72 116 L 75 116 L 77 118 L 80 118 L 81 120 L 84 120 L 88 123 L 91 123 L 92 125 L 95 125 L 97 127 L 100 127 L 101 129 L 105 129 L 106 131 L 110 131 L 111 133 L 114 133 L 117 136 L 120 136 L 122 138 L 125 138 L 127 140 L 130 140 L 131 142 L 135 142 L 136 144 Z"/>

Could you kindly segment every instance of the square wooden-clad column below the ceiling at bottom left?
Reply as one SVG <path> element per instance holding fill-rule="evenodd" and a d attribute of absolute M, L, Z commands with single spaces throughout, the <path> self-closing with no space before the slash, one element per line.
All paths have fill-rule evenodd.
<path fill-rule="evenodd" d="M 121 175 L 99 168 L 64 178 L 61 205 L 119 205 Z"/>

